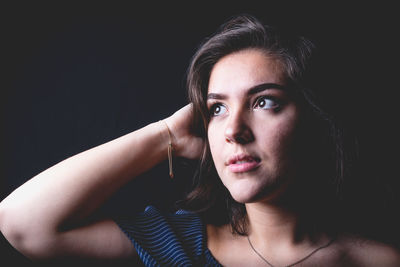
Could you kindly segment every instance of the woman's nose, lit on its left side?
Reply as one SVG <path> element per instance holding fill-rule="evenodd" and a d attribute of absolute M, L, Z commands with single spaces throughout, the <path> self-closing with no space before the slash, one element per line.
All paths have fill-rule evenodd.
<path fill-rule="evenodd" d="M 225 127 L 225 140 L 228 143 L 246 144 L 254 140 L 248 118 L 243 112 L 232 114 Z"/>

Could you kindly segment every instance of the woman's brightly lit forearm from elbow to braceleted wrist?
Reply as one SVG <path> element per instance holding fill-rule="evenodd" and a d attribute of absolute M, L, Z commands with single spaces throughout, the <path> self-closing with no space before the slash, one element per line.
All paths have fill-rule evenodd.
<path fill-rule="evenodd" d="M 54 165 L 0 203 L 0 229 L 51 234 L 79 223 L 122 185 L 166 159 L 168 138 L 160 121 Z"/>

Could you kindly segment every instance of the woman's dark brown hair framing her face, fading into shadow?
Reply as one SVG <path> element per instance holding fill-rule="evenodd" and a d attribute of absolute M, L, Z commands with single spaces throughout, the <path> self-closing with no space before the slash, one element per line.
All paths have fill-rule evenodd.
<path fill-rule="evenodd" d="M 301 182 L 313 192 L 308 194 L 310 202 L 320 205 L 321 209 L 329 209 L 326 204 L 339 192 L 346 161 L 341 128 L 318 98 L 317 92 L 322 88 L 316 77 L 319 69 L 314 66 L 315 45 L 304 37 L 291 36 L 263 25 L 251 15 L 239 15 L 228 20 L 200 45 L 188 68 L 187 88 L 194 107 L 193 127 L 205 139 L 205 145 L 193 189 L 180 207 L 199 212 L 207 223 L 230 223 L 233 232 L 238 234 L 247 233 L 246 209 L 244 204 L 231 197 L 216 172 L 207 138 L 210 116 L 206 100 L 213 66 L 226 55 L 251 48 L 264 51 L 283 66 L 287 85 L 306 107 L 304 127 L 309 131 L 304 134 L 304 140 L 308 140 L 304 147 L 310 168 Z M 321 174 L 324 179 L 321 179 Z"/>

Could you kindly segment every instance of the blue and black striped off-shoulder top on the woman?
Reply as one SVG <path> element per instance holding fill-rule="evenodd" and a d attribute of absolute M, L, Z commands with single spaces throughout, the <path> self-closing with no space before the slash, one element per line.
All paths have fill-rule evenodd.
<path fill-rule="evenodd" d="M 189 211 L 163 214 L 153 206 L 116 223 L 145 266 L 222 266 L 207 248 L 200 217 Z"/>

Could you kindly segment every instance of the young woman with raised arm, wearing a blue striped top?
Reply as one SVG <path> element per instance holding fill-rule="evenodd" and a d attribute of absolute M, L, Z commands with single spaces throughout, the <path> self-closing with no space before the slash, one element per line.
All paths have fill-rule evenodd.
<path fill-rule="evenodd" d="M 252 16 L 231 19 L 192 59 L 190 104 L 30 179 L 1 202 L 2 233 L 35 260 L 400 266 L 395 248 L 344 231 L 345 146 L 315 94 L 314 50 Z M 179 211 L 93 216 L 171 147 L 201 163 Z"/>

